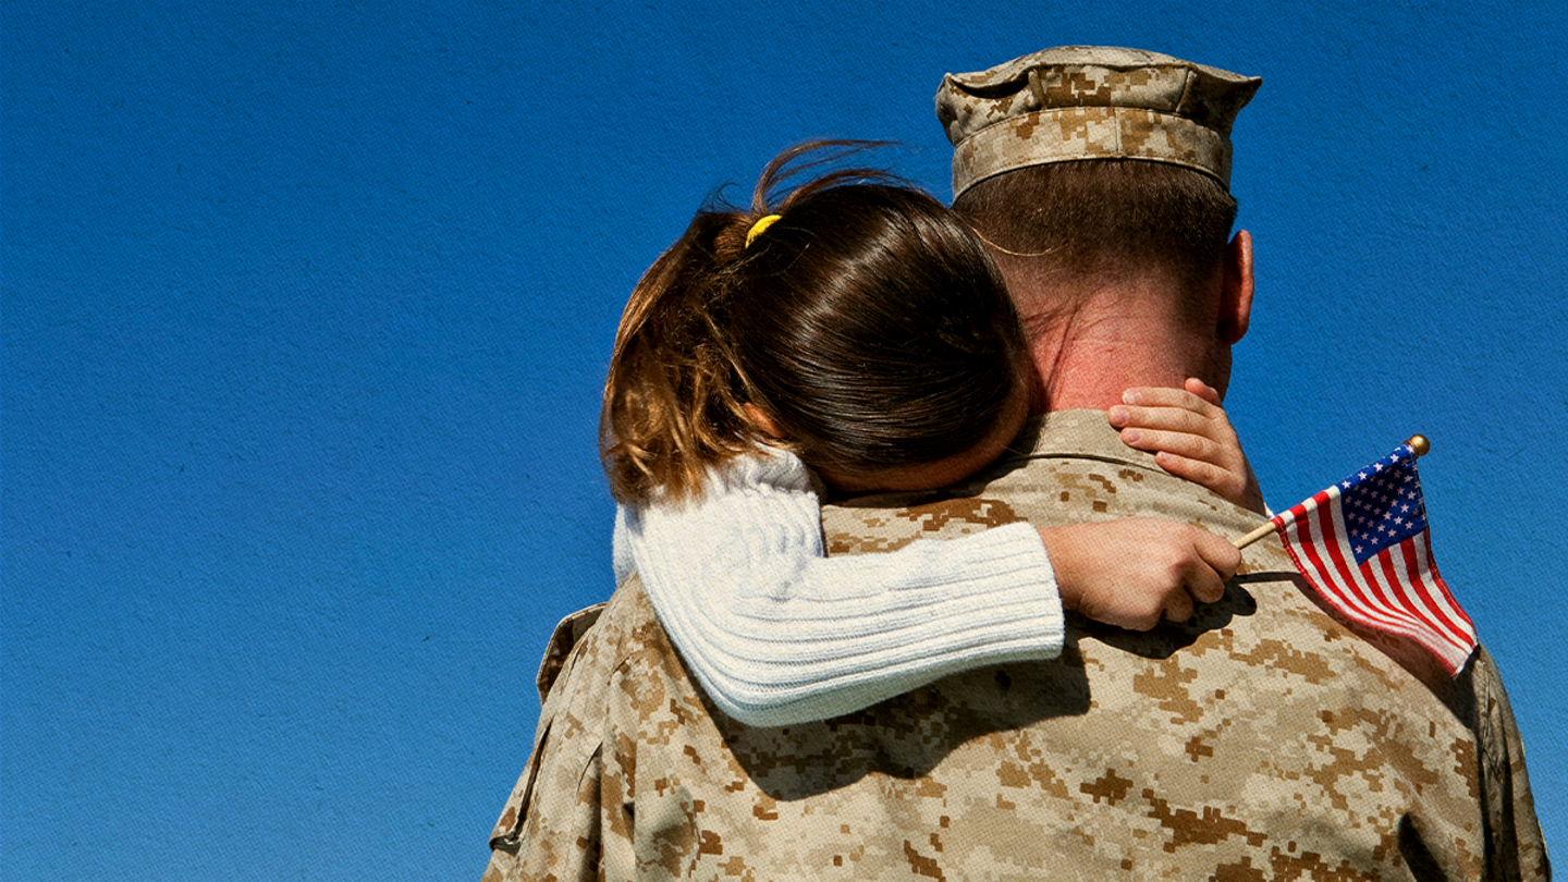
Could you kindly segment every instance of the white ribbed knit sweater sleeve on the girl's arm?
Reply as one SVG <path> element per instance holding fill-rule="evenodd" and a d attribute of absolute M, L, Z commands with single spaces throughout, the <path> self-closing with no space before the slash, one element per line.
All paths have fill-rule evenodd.
<path fill-rule="evenodd" d="M 621 507 L 635 568 L 713 702 L 748 725 L 858 711 L 933 680 L 1062 651 L 1051 560 L 1029 524 L 826 557 L 822 501 L 792 454 L 740 457 L 699 499 Z"/>

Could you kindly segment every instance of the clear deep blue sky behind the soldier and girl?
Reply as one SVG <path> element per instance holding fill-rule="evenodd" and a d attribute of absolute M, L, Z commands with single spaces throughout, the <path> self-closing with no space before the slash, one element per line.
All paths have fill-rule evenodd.
<path fill-rule="evenodd" d="M 632 282 L 798 140 L 946 198 L 942 72 L 1073 42 L 1264 77 L 1232 417 L 1276 507 L 1432 436 L 1568 847 L 1560 3 L 877 6 L 5 3 L 0 876 L 477 879 Z"/>

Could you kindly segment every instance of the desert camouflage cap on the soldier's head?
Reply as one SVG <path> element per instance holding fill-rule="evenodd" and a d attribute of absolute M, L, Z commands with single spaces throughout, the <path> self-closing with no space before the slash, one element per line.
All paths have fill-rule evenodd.
<path fill-rule="evenodd" d="M 1231 122 L 1262 80 L 1138 49 L 1063 46 L 947 74 L 936 118 L 953 143 L 953 196 L 1052 162 L 1140 159 L 1231 185 Z"/>

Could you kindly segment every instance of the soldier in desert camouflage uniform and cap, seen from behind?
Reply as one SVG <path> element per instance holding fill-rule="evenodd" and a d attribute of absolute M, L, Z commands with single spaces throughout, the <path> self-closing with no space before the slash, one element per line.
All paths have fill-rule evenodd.
<path fill-rule="evenodd" d="M 1259 523 L 1115 428 L 1149 403 L 1120 400 L 1129 385 L 1229 380 L 1253 286 L 1228 132 L 1256 88 L 1082 47 L 944 80 L 955 207 L 996 251 L 1054 410 L 1032 450 L 958 487 L 828 507 L 833 552 L 1018 519 Z M 1485 650 L 1428 687 L 1391 648 L 1267 540 L 1187 623 L 1069 617 L 1055 662 L 754 728 L 693 683 L 633 576 L 552 640 L 485 879 L 1549 877 Z"/>

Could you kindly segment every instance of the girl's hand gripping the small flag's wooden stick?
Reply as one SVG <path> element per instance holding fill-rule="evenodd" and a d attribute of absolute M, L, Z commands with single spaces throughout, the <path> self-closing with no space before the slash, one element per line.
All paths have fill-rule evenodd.
<path fill-rule="evenodd" d="M 1131 631 L 1192 618 L 1193 604 L 1220 600 L 1242 565 L 1229 541 L 1156 518 L 1043 527 L 1040 538 L 1062 609 Z"/>

